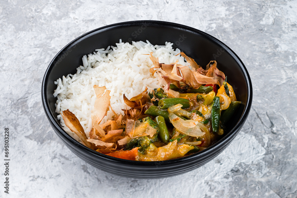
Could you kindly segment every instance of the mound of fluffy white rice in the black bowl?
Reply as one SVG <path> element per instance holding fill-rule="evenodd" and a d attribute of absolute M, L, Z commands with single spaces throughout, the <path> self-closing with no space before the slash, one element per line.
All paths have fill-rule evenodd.
<path fill-rule="evenodd" d="M 173 43 L 165 42 L 165 45 L 152 45 L 146 42 L 120 42 L 116 47 L 109 46 L 105 49 L 97 49 L 93 54 L 83 56 L 83 66 L 77 68 L 74 75 L 63 76 L 55 81 L 57 89 L 54 96 L 57 97 L 56 112 L 64 130 L 72 137 L 79 140 L 68 127 L 65 126 L 61 112 L 69 109 L 80 121 L 87 137 L 92 128 L 91 111 L 94 107 L 96 95 L 93 86 L 105 86 L 110 92 L 110 105 L 112 109 L 123 114 L 121 109 L 129 109 L 123 101 L 123 94 L 128 99 L 140 94 L 145 87 L 154 89 L 159 87 L 158 77 L 152 77 L 149 69 L 153 63 L 149 58 L 150 52 L 159 58 L 160 63 L 170 64 L 178 59 L 179 64 L 187 64 L 180 55 L 179 49 L 173 50 Z M 102 120 L 104 123 L 112 119 L 113 113 L 108 111 Z"/>

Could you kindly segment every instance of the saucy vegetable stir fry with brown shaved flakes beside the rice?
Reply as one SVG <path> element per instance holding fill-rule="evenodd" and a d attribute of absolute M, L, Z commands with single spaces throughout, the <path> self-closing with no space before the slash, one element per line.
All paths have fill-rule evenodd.
<path fill-rule="evenodd" d="M 128 99 L 129 109 L 116 114 L 110 106 L 110 91 L 94 86 L 97 99 L 92 110 L 92 130 L 87 138 L 78 119 L 63 111 L 65 125 L 82 143 L 109 156 L 137 161 L 161 161 L 197 153 L 211 146 L 224 134 L 225 124 L 241 102 L 233 88 L 211 61 L 206 69 L 180 53 L 189 66 L 176 61 L 159 63 L 150 54 L 154 66 L 150 72 L 159 77 L 160 88 L 147 90 Z M 113 119 L 100 123 L 107 111 Z"/>

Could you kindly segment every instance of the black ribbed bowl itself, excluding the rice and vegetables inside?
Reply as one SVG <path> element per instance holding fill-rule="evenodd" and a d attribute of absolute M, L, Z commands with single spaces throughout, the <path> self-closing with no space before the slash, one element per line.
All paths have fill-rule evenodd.
<path fill-rule="evenodd" d="M 118 159 L 93 151 L 78 143 L 65 132 L 55 113 L 54 81 L 69 73 L 74 74 L 82 65 L 82 57 L 95 49 L 106 48 L 122 39 L 123 42 L 146 41 L 153 45 L 174 43 L 189 57 L 205 66 L 211 60 L 228 76 L 228 83 L 243 103 L 228 123 L 225 136 L 209 148 L 190 156 L 158 162 Z M 234 139 L 247 119 L 252 104 L 252 83 L 242 61 L 218 39 L 188 26 L 162 21 L 130 21 L 116 23 L 90 31 L 66 45 L 51 61 L 42 81 L 42 104 L 45 114 L 59 138 L 78 157 L 99 169 L 131 178 L 164 178 L 179 175 L 202 166 L 214 159 Z"/>

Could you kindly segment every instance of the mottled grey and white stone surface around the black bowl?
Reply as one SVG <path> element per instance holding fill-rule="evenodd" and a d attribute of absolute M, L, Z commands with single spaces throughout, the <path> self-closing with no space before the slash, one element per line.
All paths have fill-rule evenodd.
<path fill-rule="evenodd" d="M 10 129 L 10 194 L 0 197 L 297 197 L 296 1 L 0 1 L 1 157 Z M 41 103 L 48 64 L 76 37 L 130 20 L 181 23 L 220 39 L 253 83 L 249 118 L 230 146 L 196 170 L 139 180 L 75 156 Z M 2 164 L 2 162 L 1 162 Z"/>

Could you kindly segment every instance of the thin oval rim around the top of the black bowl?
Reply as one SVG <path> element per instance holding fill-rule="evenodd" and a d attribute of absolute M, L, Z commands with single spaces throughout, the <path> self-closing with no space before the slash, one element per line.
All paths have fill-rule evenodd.
<path fill-rule="evenodd" d="M 126 159 L 120 159 L 120 158 L 116 158 L 116 157 L 112 157 L 112 156 L 108 156 L 105 155 L 103 153 L 99 153 L 97 151 L 94 151 L 88 147 L 86 147 L 85 145 L 79 143 L 77 140 L 75 140 L 73 137 L 71 137 L 66 131 L 64 131 L 62 129 L 62 127 L 60 126 L 60 124 L 56 121 L 56 118 L 54 118 L 53 113 L 50 110 L 50 107 L 48 105 L 47 102 L 47 95 L 46 95 L 46 87 L 48 85 L 48 76 L 50 74 L 50 71 L 52 70 L 52 67 L 56 64 L 56 62 L 59 60 L 60 56 L 67 51 L 67 49 L 69 49 L 69 47 L 72 47 L 74 45 L 76 45 L 76 43 L 78 43 L 80 40 L 82 40 L 85 37 L 89 37 L 93 34 L 96 34 L 98 32 L 101 31 L 106 31 L 106 30 L 110 30 L 110 29 L 115 29 L 115 28 L 119 28 L 119 27 L 126 27 L 126 26 L 139 26 L 139 25 L 143 25 L 143 24 L 148 24 L 148 26 L 162 26 L 162 27 L 167 27 L 167 28 L 178 28 L 178 29 L 182 29 L 185 31 L 190 31 L 192 33 L 195 34 L 199 34 L 201 36 L 206 37 L 207 39 L 211 40 L 211 42 L 216 43 L 219 46 L 222 46 L 224 48 L 224 50 L 226 50 L 227 53 L 230 54 L 230 56 L 238 63 L 238 65 L 240 66 L 244 76 L 245 76 L 245 81 L 247 83 L 247 102 L 246 102 L 246 106 L 244 108 L 244 112 L 241 116 L 241 118 L 239 119 L 239 121 L 236 123 L 236 125 L 228 132 L 228 134 L 226 134 L 224 137 L 222 137 L 222 139 L 220 139 L 219 141 L 217 141 L 216 143 L 214 143 L 213 145 L 211 145 L 210 147 L 204 149 L 203 151 L 200 151 L 198 153 L 194 153 L 192 155 L 189 156 L 184 156 L 181 158 L 177 158 L 177 159 L 170 159 L 170 160 L 165 160 L 165 161 L 132 161 L 132 160 L 126 160 Z M 82 34 L 81 36 L 77 37 L 76 39 L 72 40 L 71 42 L 69 42 L 65 47 L 63 47 L 56 55 L 55 57 L 52 59 L 52 61 L 50 62 L 48 68 L 46 69 L 45 75 L 42 79 L 42 106 L 44 108 L 45 114 L 48 117 L 48 120 L 51 124 L 51 126 L 55 127 L 57 130 L 56 132 L 59 132 L 61 136 L 63 136 L 64 138 L 66 138 L 68 140 L 68 142 L 71 142 L 71 144 L 73 146 L 78 146 L 78 149 L 80 150 L 84 150 L 86 152 L 92 153 L 93 156 L 98 156 L 101 159 L 104 160 L 108 160 L 108 161 L 113 161 L 113 162 L 117 162 L 120 164 L 132 164 L 132 165 L 137 165 L 137 166 L 155 166 L 156 163 L 158 163 L 160 166 L 162 165 L 168 165 L 168 164 L 175 164 L 175 163 L 179 163 L 182 161 L 189 161 L 192 160 L 194 158 L 199 158 L 202 156 L 207 156 L 209 152 L 211 152 L 212 150 L 216 150 L 221 148 L 221 146 L 224 144 L 224 142 L 228 142 L 228 141 L 232 141 L 234 139 L 234 137 L 236 136 L 236 134 L 239 132 L 239 130 L 241 129 L 243 123 L 245 122 L 245 120 L 247 119 L 247 116 L 249 114 L 249 111 L 251 109 L 251 105 L 252 105 L 252 82 L 251 82 L 251 78 L 249 76 L 249 73 L 246 69 L 246 67 L 244 66 L 243 62 L 241 61 L 241 59 L 236 55 L 236 53 L 233 52 L 233 50 L 230 49 L 230 47 L 228 47 L 227 45 L 225 45 L 223 42 L 221 42 L 219 39 L 203 32 L 200 31 L 198 29 L 189 27 L 189 26 L 185 26 L 185 25 L 181 25 L 178 23 L 172 23 L 172 22 L 167 22 L 167 21 L 157 21 L 157 20 L 135 20 L 135 21 L 127 21 L 127 22 L 121 22 L 121 23 L 114 23 L 114 24 L 110 24 L 107 26 L 103 26 L 94 30 L 91 30 L 85 34 Z M 61 138 L 61 137 L 60 137 Z"/>

